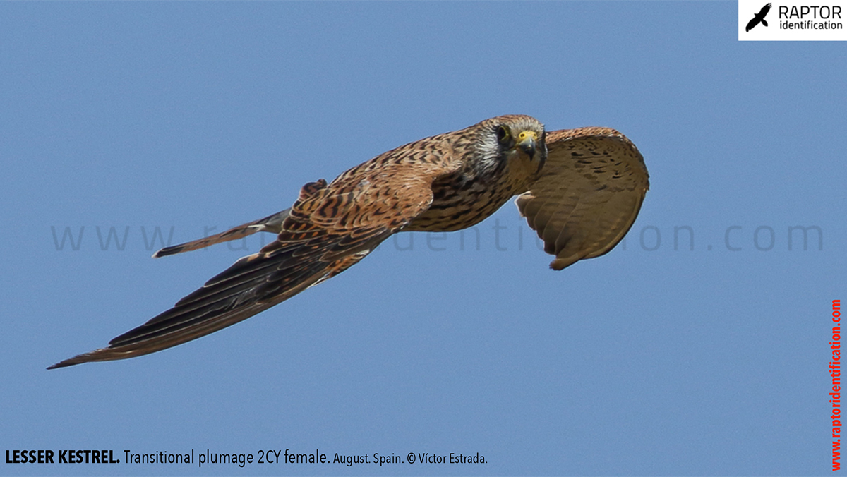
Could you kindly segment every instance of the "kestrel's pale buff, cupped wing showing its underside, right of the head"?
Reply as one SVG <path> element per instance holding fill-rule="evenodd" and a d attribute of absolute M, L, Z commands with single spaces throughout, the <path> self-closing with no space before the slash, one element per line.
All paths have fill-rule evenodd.
<path fill-rule="evenodd" d="M 649 187 L 635 145 L 608 128 L 547 133 L 547 162 L 516 203 L 556 255 L 551 269 L 599 257 L 621 241 Z"/>

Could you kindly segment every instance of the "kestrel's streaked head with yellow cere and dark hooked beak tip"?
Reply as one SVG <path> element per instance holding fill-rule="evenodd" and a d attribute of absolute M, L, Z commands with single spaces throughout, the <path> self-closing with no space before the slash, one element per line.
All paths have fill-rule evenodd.
<path fill-rule="evenodd" d="M 486 173 L 503 169 L 509 175 L 537 175 L 547 160 L 545 130 L 531 116 L 509 115 L 485 119 L 477 129 L 479 169 Z"/>

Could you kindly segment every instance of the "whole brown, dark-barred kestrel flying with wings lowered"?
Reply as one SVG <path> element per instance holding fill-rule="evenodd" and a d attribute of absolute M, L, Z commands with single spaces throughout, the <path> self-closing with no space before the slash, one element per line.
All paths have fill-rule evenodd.
<path fill-rule="evenodd" d="M 478 224 L 507 202 L 555 255 L 561 270 L 612 250 L 641 208 L 648 174 L 635 145 L 609 128 L 545 132 L 523 115 L 410 142 L 332 182 L 302 187 L 291 208 L 153 257 L 271 232 L 275 241 L 236 261 L 197 291 L 108 347 L 53 364 L 141 356 L 221 330 L 344 270 L 401 231 Z"/>

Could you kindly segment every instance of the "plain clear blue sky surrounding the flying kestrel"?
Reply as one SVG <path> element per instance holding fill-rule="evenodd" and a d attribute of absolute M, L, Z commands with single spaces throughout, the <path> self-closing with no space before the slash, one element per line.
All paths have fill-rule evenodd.
<path fill-rule="evenodd" d="M 0 474 L 831 474 L 847 45 L 737 25 L 734 2 L 0 4 L 0 450 L 488 462 Z M 262 245 L 154 260 L 157 227 L 258 219 L 500 114 L 635 142 L 625 244 L 553 272 L 509 203 L 463 247 L 402 234 L 198 341 L 45 370 Z"/>

